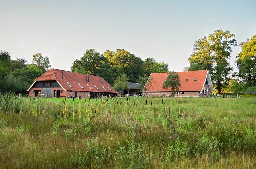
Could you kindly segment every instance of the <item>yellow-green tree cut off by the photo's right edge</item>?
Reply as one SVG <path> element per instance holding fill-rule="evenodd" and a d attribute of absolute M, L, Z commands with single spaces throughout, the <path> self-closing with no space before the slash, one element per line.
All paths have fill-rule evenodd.
<path fill-rule="evenodd" d="M 256 35 L 239 45 L 242 51 L 237 55 L 236 65 L 246 86 L 256 85 Z"/>

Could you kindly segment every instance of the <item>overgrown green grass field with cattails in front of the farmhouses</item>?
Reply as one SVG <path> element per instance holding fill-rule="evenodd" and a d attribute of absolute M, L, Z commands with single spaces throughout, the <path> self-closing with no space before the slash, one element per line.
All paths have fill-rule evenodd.
<path fill-rule="evenodd" d="M 256 168 L 255 98 L 0 96 L 0 168 Z"/>

